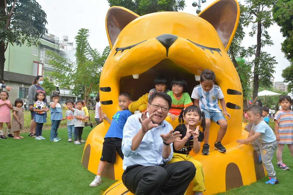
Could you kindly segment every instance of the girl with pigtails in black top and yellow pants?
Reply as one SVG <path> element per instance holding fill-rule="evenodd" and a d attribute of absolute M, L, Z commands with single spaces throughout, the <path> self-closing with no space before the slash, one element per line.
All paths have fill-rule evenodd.
<path fill-rule="evenodd" d="M 200 151 L 200 142 L 198 141 L 200 126 L 197 125 L 202 122 L 201 126 L 203 130 L 205 130 L 205 115 L 200 111 L 199 107 L 191 105 L 181 111 L 178 121 L 180 125 L 178 125 L 174 131 L 180 132 L 182 136 L 176 139 L 182 140 L 182 142 L 173 142 L 174 153 L 169 163 L 177 161 L 192 162 L 196 168 L 195 177 L 193 179 L 193 194 L 202 194 L 202 192 L 205 191 L 202 164 L 188 154 L 191 150 L 193 150 L 194 153 Z M 184 124 L 184 121 L 186 124 Z"/>

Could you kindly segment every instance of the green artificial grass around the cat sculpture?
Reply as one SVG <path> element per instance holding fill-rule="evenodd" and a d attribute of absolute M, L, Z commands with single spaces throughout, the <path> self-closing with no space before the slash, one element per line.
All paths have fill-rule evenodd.
<path fill-rule="evenodd" d="M 91 127 L 85 127 L 82 139 L 86 140 Z M 42 135 L 46 140 L 34 140 L 28 133 L 24 139 L 7 138 L 0 140 L 0 194 L 103 194 L 114 180 L 103 177 L 98 187 L 89 187 L 95 174 L 81 165 L 84 144 L 68 143 L 67 129 L 58 130 L 61 141 L 50 142 L 50 130 Z M 293 194 L 292 170 L 277 168 L 272 160 L 280 184 L 270 186 L 264 182 L 268 177 L 248 185 L 230 189 L 221 194 Z M 293 169 L 293 160 L 285 146 L 283 162 Z M 172 195 L 172 194 L 170 194 Z"/>

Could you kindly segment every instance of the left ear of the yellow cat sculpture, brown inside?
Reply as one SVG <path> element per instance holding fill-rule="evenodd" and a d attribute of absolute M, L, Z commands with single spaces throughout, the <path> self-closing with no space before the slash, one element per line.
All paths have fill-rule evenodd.
<path fill-rule="evenodd" d="M 124 7 L 110 7 L 106 15 L 106 32 L 110 49 L 112 49 L 121 30 L 132 20 L 138 17 L 139 15 Z"/>

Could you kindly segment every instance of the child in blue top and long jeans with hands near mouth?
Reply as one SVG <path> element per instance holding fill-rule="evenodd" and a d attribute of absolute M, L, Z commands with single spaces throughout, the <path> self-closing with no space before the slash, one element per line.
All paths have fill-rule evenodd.
<path fill-rule="evenodd" d="M 50 102 L 51 107 L 51 133 L 50 133 L 50 141 L 57 142 L 61 139 L 58 137 L 57 130 L 60 125 L 60 121 L 62 120 L 62 109 L 61 105 L 58 103 L 59 101 L 59 93 L 55 92 L 52 95 L 52 101 Z"/>

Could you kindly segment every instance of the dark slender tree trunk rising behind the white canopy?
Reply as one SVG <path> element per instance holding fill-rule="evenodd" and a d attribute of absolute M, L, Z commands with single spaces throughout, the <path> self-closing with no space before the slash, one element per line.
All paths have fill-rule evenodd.
<path fill-rule="evenodd" d="M 253 99 L 256 98 L 258 94 L 259 87 L 259 58 L 261 49 L 261 22 L 257 24 L 257 37 L 256 37 L 256 51 L 255 51 L 255 61 L 254 61 L 254 71 L 253 71 Z"/>

